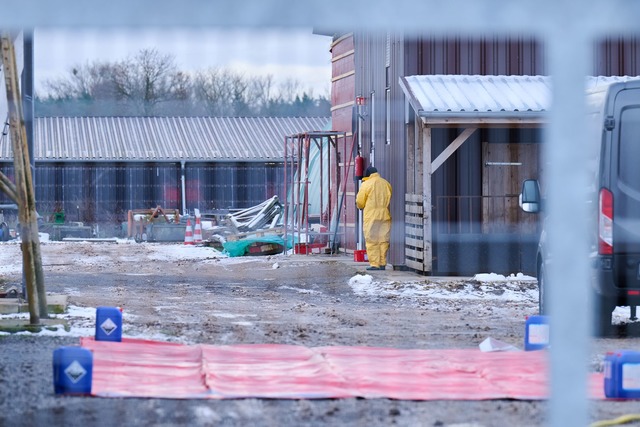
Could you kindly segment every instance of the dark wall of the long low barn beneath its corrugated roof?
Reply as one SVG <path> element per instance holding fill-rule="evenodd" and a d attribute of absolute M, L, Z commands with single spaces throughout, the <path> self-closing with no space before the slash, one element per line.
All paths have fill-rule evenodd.
<path fill-rule="evenodd" d="M 13 164 L 0 163 L 13 179 Z M 126 221 L 130 209 L 182 206 L 181 166 L 165 163 L 36 163 L 38 212 L 64 211 L 70 221 Z M 186 208 L 202 211 L 246 208 L 277 195 L 283 199 L 282 163 L 187 163 Z M 11 203 L 0 194 L 0 204 Z"/>

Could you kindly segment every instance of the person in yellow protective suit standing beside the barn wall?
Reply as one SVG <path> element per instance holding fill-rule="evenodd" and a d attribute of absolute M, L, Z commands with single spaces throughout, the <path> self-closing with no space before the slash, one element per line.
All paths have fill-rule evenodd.
<path fill-rule="evenodd" d="M 356 206 L 362 209 L 362 229 L 370 266 L 367 270 L 384 270 L 387 265 L 389 236 L 391 235 L 391 184 L 369 166 L 356 195 Z"/>

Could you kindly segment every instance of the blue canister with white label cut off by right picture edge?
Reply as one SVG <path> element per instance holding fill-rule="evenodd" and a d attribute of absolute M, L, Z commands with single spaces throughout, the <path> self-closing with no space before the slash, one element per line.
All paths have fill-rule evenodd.
<path fill-rule="evenodd" d="M 604 359 L 604 395 L 609 398 L 640 398 L 640 352 L 620 350 Z"/>

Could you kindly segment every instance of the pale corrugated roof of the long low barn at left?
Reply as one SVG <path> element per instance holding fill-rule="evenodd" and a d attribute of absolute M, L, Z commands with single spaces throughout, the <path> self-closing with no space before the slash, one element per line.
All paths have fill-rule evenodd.
<path fill-rule="evenodd" d="M 36 161 L 282 161 L 284 138 L 327 117 L 39 117 Z M 9 138 L 0 159 L 12 158 Z"/>

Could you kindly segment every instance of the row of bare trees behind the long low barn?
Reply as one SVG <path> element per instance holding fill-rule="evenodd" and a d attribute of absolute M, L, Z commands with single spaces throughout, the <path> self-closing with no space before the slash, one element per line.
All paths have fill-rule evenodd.
<path fill-rule="evenodd" d="M 328 114 L 322 99 L 317 101 L 324 110 L 312 106 L 311 111 L 310 103 L 302 102 L 306 93 L 299 81 L 274 82 L 273 75 L 246 76 L 225 68 L 191 76 L 178 70 L 172 55 L 143 49 L 119 62 L 76 66 L 68 76 L 47 81 L 46 98 L 36 97 L 36 108 L 45 116 Z"/>

